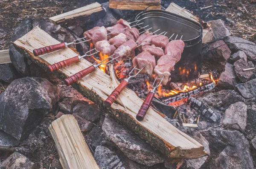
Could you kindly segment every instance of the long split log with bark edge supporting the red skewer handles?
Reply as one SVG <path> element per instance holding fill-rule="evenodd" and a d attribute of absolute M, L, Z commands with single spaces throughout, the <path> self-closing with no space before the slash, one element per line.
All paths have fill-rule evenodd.
<path fill-rule="evenodd" d="M 14 42 L 15 48 L 31 59 L 41 68 L 47 70 L 49 64 L 77 56 L 70 48 L 65 48 L 42 56 L 34 56 L 33 50 L 48 45 L 58 44 L 56 39 L 41 30 L 39 27 Z M 67 78 L 90 66 L 90 62 L 81 59 L 80 62 L 54 73 L 61 79 Z M 105 107 L 104 101 L 111 94 L 118 83 L 102 72 L 99 68 L 72 86 L 85 97 L 96 103 L 103 111 L 113 115 L 123 125 L 138 133 L 154 148 L 159 149 L 170 158 L 199 158 L 206 155 L 204 146 L 185 133 L 172 126 L 153 108 L 149 108 L 143 121 L 137 121 L 136 115 L 143 100 L 134 91 L 125 88 L 111 107 Z"/>

